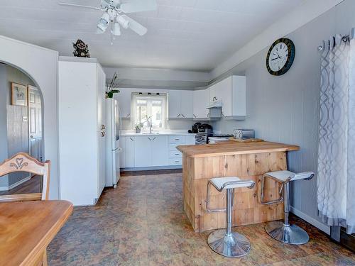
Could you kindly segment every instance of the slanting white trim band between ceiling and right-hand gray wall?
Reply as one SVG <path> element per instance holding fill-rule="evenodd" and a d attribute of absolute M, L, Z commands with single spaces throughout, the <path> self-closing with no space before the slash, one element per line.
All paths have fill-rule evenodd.
<path fill-rule="evenodd" d="M 293 11 L 285 14 L 282 18 L 275 23 L 271 24 L 268 28 L 265 29 L 261 34 L 257 35 L 249 43 L 246 43 L 244 47 L 239 49 L 231 55 L 228 60 L 222 62 L 217 67 L 212 70 L 211 77 L 216 79 L 220 75 L 228 72 L 236 65 L 239 65 L 241 62 L 244 62 L 249 57 L 256 55 L 264 48 L 271 45 L 278 38 L 282 38 L 285 35 L 292 33 L 332 9 L 337 4 L 341 3 L 344 0 L 308 0 L 303 1 L 302 4 L 295 7 Z"/>

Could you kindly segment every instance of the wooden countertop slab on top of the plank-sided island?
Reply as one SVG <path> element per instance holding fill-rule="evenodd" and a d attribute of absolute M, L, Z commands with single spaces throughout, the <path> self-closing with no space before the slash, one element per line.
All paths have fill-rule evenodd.
<path fill-rule="evenodd" d="M 207 145 L 180 145 L 176 148 L 187 157 L 212 157 L 300 150 L 300 147 L 295 145 L 271 143 L 268 141 L 258 143 L 236 143 L 235 141 L 228 141 Z"/>

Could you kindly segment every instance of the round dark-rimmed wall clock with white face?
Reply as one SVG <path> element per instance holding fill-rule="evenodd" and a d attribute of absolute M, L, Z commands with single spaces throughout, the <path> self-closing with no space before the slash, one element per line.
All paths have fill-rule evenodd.
<path fill-rule="evenodd" d="M 275 40 L 266 56 L 266 68 L 270 74 L 280 76 L 288 72 L 295 59 L 295 45 L 286 38 Z"/>

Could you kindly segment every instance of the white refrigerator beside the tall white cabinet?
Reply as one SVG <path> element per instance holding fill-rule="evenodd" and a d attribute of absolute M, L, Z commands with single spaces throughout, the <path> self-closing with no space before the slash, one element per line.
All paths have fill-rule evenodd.
<path fill-rule="evenodd" d="M 115 99 L 107 99 L 107 177 L 106 187 L 116 187 L 120 177 L 119 135 L 120 135 L 119 103 Z"/>

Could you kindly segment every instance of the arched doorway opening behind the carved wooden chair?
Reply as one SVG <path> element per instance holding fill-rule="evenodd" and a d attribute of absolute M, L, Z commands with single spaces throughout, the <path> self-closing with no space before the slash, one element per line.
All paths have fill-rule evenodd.
<path fill-rule="evenodd" d="M 0 162 L 19 152 L 43 160 L 43 97 L 25 72 L 0 63 Z M 0 179 L 0 194 L 40 192 L 38 179 L 18 172 Z"/>

